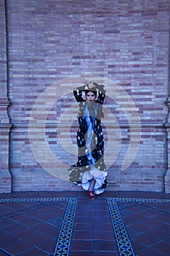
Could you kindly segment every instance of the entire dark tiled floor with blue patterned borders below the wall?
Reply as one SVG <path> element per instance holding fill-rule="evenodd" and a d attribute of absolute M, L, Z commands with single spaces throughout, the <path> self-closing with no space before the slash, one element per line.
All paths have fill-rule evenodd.
<path fill-rule="evenodd" d="M 0 256 L 170 255 L 169 194 L 1 194 L 0 217 Z"/>

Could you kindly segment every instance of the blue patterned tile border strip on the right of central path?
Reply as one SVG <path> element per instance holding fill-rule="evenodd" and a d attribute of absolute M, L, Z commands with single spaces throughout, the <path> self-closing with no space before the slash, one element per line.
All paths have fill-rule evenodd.
<path fill-rule="evenodd" d="M 136 202 L 136 203 L 170 203 L 169 199 L 146 199 L 146 198 L 121 198 L 107 197 L 109 214 L 112 219 L 112 226 L 115 232 L 118 252 L 121 256 L 135 256 L 131 240 L 125 228 L 123 217 L 120 213 L 117 202 Z"/>

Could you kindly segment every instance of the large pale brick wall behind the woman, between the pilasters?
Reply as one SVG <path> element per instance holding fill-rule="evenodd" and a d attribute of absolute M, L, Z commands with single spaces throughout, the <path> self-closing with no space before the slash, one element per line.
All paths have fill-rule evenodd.
<path fill-rule="evenodd" d="M 81 76 L 80 85 L 87 77 L 104 79 L 104 107 L 115 120 L 104 127 L 106 147 L 108 133 L 112 144 L 107 156 L 107 189 L 163 191 L 167 161 L 164 124 L 169 96 L 169 1 L 6 2 L 12 190 L 79 189 L 62 179 L 62 173 L 77 161 L 77 156 L 66 151 L 59 140 L 71 138 L 69 143 L 76 144 L 77 121 L 71 120 L 69 130 L 70 124 L 58 124 L 58 120 L 75 103 L 72 91 L 66 89 L 73 89 L 75 80 L 78 84 L 73 76 Z M 54 84 L 52 95 L 47 91 L 47 98 L 39 105 L 39 118 L 31 119 L 37 145 L 43 148 L 44 108 L 56 98 L 46 113 L 45 123 L 45 140 L 52 156 L 39 161 L 30 146 L 29 118 L 38 97 L 44 96 L 45 89 L 52 89 Z M 131 100 L 140 118 L 140 124 L 134 121 L 131 128 L 141 127 L 141 140 L 133 162 L 121 170 L 131 138 L 125 111 L 130 111 L 132 118 L 135 114 L 132 103 L 129 105 Z M 116 132 L 114 124 L 118 126 Z M 58 126 L 61 134 L 57 133 Z M 48 150 L 39 154 L 48 154 Z M 55 161 L 53 155 L 59 160 Z M 61 176 L 53 176 L 55 169 Z"/>

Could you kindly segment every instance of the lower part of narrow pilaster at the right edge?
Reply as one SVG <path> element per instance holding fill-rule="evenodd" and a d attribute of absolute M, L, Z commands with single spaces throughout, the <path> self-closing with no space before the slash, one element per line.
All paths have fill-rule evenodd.
<path fill-rule="evenodd" d="M 165 192 L 170 193 L 170 97 L 166 101 L 169 107 L 169 115 L 166 119 L 166 152 L 167 152 L 167 171 L 164 177 Z"/>

